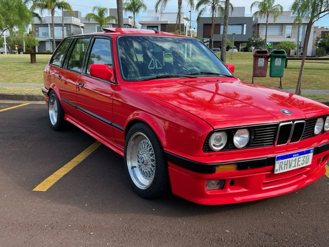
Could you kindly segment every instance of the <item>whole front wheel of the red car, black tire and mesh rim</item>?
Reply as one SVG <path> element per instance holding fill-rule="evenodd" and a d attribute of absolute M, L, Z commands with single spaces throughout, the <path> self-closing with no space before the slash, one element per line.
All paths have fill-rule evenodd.
<path fill-rule="evenodd" d="M 157 136 L 145 123 L 136 123 L 127 133 L 124 164 L 129 182 L 139 196 L 155 199 L 170 191 L 165 154 Z"/>

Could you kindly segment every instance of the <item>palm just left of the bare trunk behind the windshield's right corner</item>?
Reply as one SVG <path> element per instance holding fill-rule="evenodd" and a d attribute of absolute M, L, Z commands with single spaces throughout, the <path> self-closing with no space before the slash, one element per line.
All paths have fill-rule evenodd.
<path fill-rule="evenodd" d="M 197 14 L 196 21 L 199 22 L 200 17 L 203 16 L 205 13 L 211 13 L 211 34 L 210 34 L 210 39 L 211 39 L 211 47 L 213 48 L 214 46 L 214 40 L 213 40 L 213 34 L 214 34 L 214 28 L 215 28 L 215 23 L 216 23 L 216 17 L 217 16 L 223 16 L 225 9 L 225 1 L 220 1 L 220 0 L 200 0 L 196 5 L 195 5 L 195 10 L 200 11 Z M 233 9 L 233 6 L 230 4 L 231 8 Z"/>

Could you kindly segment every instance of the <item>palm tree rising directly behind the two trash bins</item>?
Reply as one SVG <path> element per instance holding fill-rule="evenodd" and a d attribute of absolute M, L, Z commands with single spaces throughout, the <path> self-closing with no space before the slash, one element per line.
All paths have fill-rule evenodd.
<path fill-rule="evenodd" d="M 259 15 L 260 17 L 266 17 L 266 27 L 265 27 L 265 46 L 266 49 L 266 40 L 267 40 L 267 26 L 269 16 L 273 16 L 273 23 L 277 21 L 277 17 L 282 14 L 283 7 L 280 4 L 274 5 L 275 0 L 263 0 L 262 2 L 255 1 L 250 6 L 250 11 L 252 8 L 258 8 L 258 11 L 254 12 L 252 17 Z"/>

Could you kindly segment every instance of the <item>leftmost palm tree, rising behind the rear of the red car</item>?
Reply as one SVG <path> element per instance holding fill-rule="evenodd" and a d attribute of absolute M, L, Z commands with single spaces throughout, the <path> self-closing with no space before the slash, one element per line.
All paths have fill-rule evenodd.
<path fill-rule="evenodd" d="M 54 22 L 54 16 L 55 16 L 55 10 L 56 9 L 62 9 L 66 10 L 69 13 L 74 13 L 72 10 L 72 7 L 69 3 L 65 1 L 58 1 L 58 0 L 34 0 L 31 6 L 31 11 L 34 11 L 35 9 L 39 9 L 40 13 L 44 10 L 48 10 L 51 14 L 51 24 L 52 24 L 52 51 L 56 48 L 56 41 L 55 41 L 55 22 Z"/>

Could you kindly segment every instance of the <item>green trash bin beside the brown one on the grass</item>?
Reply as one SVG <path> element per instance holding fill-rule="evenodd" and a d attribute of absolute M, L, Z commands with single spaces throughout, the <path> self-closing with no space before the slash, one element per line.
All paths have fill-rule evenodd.
<path fill-rule="evenodd" d="M 269 56 L 269 77 L 283 77 L 284 64 L 287 57 L 286 51 L 272 50 Z"/>

